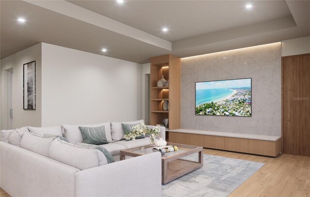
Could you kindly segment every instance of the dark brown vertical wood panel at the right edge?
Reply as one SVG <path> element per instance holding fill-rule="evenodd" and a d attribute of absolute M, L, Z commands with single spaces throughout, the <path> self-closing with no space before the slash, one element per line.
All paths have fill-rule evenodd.
<path fill-rule="evenodd" d="M 282 57 L 283 153 L 310 156 L 310 54 Z"/>

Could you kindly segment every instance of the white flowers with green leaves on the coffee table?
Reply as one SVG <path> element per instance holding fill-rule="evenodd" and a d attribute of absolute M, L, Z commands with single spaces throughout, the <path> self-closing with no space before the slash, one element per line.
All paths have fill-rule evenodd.
<path fill-rule="evenodd" d="M 144 124 L 136 125 L 131 128 L 131 132 L 124 135 L 125 140 L 136 140 L 137 137 L 141 135 L 150 135 L 150 142 L 151 144 L 154 144 L 154 139 L 156 135 L 158 135 L 160 138 L 161 136 L 158 134 L 160 129 L 158 127 L 149 128 L 148 126 Z"/>

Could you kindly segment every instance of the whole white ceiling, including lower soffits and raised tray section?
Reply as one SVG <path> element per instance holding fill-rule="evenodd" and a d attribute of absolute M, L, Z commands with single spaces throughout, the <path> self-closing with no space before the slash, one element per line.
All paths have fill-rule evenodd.
<path fill-rule="evenodd" d="M 25 24 L 16 21 L 20 16 Z M 0 1 L 1 58 L 47 42 L 146 63 L 151 56 L 194 56 L 309 35 L 309 0 Z"/>

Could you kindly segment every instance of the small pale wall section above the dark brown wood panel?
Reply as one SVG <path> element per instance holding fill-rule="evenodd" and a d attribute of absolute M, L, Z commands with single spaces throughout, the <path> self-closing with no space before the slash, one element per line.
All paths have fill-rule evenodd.
<path fill-rule="evenodd" d="M 310 53 L 310 36 L 282 41 L 282 56 Z"/>

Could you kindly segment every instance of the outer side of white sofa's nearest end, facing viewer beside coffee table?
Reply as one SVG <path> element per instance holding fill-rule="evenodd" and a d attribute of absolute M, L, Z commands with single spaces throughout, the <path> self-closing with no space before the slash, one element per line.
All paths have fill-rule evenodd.
<path fill-rule="evenodd" d="M 76 173 L 76 197 L 161 197 L 161 190 L 159 152 Z"/>

